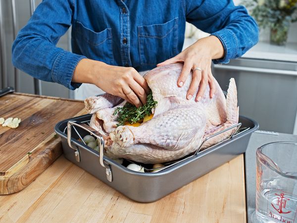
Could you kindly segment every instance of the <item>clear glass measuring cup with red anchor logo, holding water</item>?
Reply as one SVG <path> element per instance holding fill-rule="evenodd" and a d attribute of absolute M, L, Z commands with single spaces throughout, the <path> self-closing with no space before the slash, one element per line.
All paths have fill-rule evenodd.
<path fill-rule="evenodd" d="M 253 222 L 297 223 L 297 142 L 265 144 L 256 162 Z"/>

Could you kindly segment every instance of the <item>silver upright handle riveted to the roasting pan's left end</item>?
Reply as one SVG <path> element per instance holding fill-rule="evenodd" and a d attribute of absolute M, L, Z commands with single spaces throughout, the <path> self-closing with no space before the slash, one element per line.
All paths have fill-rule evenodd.
<path fill-rule="evenodd" d="M 69 147 L 71 149 L 75 150 L 75 159 L 77 162 L 80 162 L 80 154 L 79 154 L 79 150 L 71 145 L 71 127 L 72 127 L 72 125 L 75 125 L 77 127 L 80 127 L 82 129 L 86 130 L 87 132 L 89 132 L 91 135 L 95 136 L 99 140 L 99 162 L 100 162 L 100 165 L 105 168 L 107 180 L 109 182 L 111 182 L 112 181 L 111 168 L 104 163 L 104 155 L 103 155 L 104 139 L 103 139 L 102 135 L 98 131 L 96 131 L 94 128 L 90 127 L 89 125 L 86 125 L 84 123 L 81 123 L 79 121 L 74 121 L 74 120 L 68 121 L 68 123 L 67 123 L 67 142 L 68 142 Z"/>

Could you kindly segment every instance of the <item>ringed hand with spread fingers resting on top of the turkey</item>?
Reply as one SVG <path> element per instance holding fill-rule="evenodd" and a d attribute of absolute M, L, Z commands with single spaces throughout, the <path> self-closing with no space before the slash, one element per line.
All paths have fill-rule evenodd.
<path fill-rule="evenodd" d="M 187 80 L 191 69 L 194 70 L 191 86 L 187 93 L 187 99 L 190 100 L 193 96 L 196 97 L 196 102 L 200 101 L 204 95 L 207 84 L 210 87 L 209 97 L 212 98 L 215 94 L 215 84 L 211 73 L 211 60 L 224 56 L 224 48 L 221 41 L 215 36 L 209 36 L 199 39 L 192 46 L 185 49 L 183 52 L 170 59 L 165 60 L 157 66 L 162 66 L 170 63 L 184 62 L 182 73 L 177 81 L 177 85 L 182 87 Z M 198 90 L 197 95 L 194 95 Z"/>

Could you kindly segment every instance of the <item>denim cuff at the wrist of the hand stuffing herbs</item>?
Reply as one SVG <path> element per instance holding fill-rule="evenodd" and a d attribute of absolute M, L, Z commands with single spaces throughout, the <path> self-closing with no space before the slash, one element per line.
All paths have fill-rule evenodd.
<path fill-rule="evenodd" d="M 52 69 L 51 78 L 54 82 L 64 85 L 70 90 L 75 90 L 81 86 L 81 83 L 71 82 L 74 69 L 78 62 L 87 58 L 86 56 L 81 56 L 73 54 L 68 51 L 62 51 L 55 59 Z"/>

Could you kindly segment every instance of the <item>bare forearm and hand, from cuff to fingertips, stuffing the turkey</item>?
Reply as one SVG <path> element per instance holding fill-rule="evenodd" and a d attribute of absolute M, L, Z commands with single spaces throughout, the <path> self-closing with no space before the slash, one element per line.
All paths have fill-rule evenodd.
<path fill-rule="evenodd" d="M 147 103 L 148 83 L 132 67 L 82 59 L 74 70 L 72 82 L 95 84 L 106 93 L 119 96 L 136 107 Z"/>

